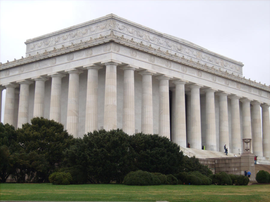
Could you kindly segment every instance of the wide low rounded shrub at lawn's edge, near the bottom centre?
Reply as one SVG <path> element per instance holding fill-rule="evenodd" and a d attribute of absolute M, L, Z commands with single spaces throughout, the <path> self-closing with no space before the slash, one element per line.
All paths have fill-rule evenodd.
<path fill-rule="evenodd" d="M 125 185 L 160 185 L 161 181 L 159 180 L 158 176 L 146 172 L 146 171 L 134 171 L 128 173 L 124 178 Z"/>

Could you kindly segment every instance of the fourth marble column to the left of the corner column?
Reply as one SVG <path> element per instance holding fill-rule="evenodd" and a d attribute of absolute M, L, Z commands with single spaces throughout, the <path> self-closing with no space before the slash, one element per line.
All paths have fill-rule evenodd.
<path fill-rule="evenodd" d="M 44 116 L 44 102 L 45 102 L 45 81 L 48 78 L 44 76 L 37 76 L 32 78 L 35 81 L 35 98 L 34 98 L 34 112 L 33 117 Z"/>

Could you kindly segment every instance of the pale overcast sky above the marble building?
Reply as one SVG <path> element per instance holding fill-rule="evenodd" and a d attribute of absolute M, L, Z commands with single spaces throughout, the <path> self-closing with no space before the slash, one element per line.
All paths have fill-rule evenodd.
<path fill-rule="evenodd" d="M 270 0 L 0 0 L 0 61 L 25 57 L 27 39 L 110 13 L 240 61 L 245 78 L 270 84 Z"/>

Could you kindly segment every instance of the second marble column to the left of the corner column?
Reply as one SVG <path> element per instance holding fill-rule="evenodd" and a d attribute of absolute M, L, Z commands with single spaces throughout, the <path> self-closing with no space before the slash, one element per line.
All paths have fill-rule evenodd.
<path fill-rule="evenodd" d="M 69 74 L 67 97 L 67 132 L 79 137 L 79 74 L 81 69 L 65 70 Z"/>

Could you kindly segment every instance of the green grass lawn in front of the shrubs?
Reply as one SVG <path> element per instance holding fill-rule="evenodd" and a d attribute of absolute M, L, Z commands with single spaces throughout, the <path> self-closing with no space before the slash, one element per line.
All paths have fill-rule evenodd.
<path fill-rule="evenodd" d="M 270 201 L 270 185 L 0 184 L 7 201 Z"/>

